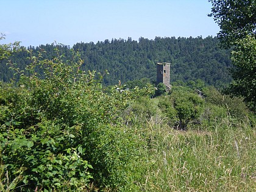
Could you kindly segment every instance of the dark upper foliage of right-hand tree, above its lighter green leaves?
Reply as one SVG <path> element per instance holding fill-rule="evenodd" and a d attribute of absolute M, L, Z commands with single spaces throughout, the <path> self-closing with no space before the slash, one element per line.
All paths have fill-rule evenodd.
<path fill-rule="evenodd" d="M 218 37 L 225 47 L 236 45 L 247 35 L 255 37 L 256 5 L 254 0 L 210 0 L 213 16 L 221 31 Z"/>

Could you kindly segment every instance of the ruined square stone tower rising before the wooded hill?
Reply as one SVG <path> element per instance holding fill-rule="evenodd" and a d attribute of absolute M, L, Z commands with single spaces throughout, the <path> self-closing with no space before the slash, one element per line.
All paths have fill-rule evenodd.
<path fill-rule="evenodd" d="M 170 88 L 170 65 L 171 63 L 157 63 L 157 84 L 163 83 Z"/>

